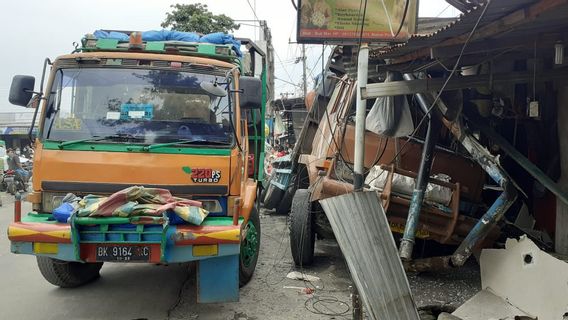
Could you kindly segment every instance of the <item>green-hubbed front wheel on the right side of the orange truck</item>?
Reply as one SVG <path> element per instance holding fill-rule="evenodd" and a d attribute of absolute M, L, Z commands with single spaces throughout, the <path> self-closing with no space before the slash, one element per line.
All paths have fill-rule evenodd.
<path fill-rule="evenodd" d="M 252 208 L 249 220 L 246 225 L 246 237 L 241 239 L 241 254 L 239 258 L 239 286 L 242 287 L 247 284 L 256 268 L 258 261 L 258 253 L 260 251 L 260 217 L 258 215 L 258 208 Z M 241 234 L 243 234 L 241 232 Z"/>

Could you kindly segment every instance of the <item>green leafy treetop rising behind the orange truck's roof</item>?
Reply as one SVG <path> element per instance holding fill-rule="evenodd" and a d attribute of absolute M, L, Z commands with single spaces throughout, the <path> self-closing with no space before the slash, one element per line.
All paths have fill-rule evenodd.
<path fill-rule="evenodd" d="M 228 33 L 240 28 L 230 17 L 215 15 L 207 9 L 206 4 L 175 4 L 171 6 L 172 12 L 166 13 L 166 20 L 161 24 L 163 28 L 197 33 Z"/>

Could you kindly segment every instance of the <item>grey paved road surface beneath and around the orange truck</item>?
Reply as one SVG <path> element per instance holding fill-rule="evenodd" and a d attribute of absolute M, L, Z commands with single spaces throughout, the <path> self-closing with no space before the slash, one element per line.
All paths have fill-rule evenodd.
<path fill-rule="evenodd" d="M 105 264 L 101 278 L 91 284 L 75 289 L 52 286 L 40 275 L 35 257 L 10 253 L 5 230 L 13 218 L 13 200 L 1 196 L 1 319 L 167 319 L 168 314 L 170 319 L 330 319 L 306 310 L 310 296 L 284 288 L 304 286 L 285 277 L 293 267 L 284 216 L 261 215 L 261 256 L 253 280 L 241 289 L 240 302 L 198 305 L 193 264 Z M 24 209 L 29 206 L 24 204 Z M 350 280 L 337 246 L 319 247 L 327 252 L 318 253 L 315 266 L 305 272 L 322 278 L 316 283 L 322 289 L 319 294 L 348 302 Z M 340 302 L 316 306 L 327 313 L 345 308 Z"/>

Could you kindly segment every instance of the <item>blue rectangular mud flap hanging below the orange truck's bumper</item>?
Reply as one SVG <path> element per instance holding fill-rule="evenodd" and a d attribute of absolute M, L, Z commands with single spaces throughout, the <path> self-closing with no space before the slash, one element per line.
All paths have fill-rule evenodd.
<path fill-rule="evenodd" d="M 239 255 L 199 260 L 197 302 L 239 301 Z"/>

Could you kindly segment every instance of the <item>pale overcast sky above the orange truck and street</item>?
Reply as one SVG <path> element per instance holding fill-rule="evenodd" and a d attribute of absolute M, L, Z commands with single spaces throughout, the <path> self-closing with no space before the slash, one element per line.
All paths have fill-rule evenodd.
<path fill-rule="evenodd" d="M 371 0 L 378 1 L 378 0 Z M 175 3 L 205 3 L 215 14 L 226 14 L 235 20 L 266 20 L 273 36 L 277 59 L 275 92 L 300 94 L 301 64 L 294 63 L 300 55 L 296 38 L 296 12 L 291 0 L 26 0 L 4 1 L 0 10 L 3 30 L 0 50 L 0 112 L 24 111 L 8 103 L 8 91 L 16 74 L 36 77 L 39 88 L 42 66 L 46 57 L 54 59 L 74 49 L 74 42 L 97 29 L 155 30 L 170 5 Z M 420 16 L 452 17 L 459 12 L 445 0 L 421 0 Z M 242 22 L 237 37 L 258 38 L 258 29 Z M 310 83 L 321 69 L 320 45 L 307 46 L 307 70 Z M 30 110 L 31 111 L 31 110 Z"/>

